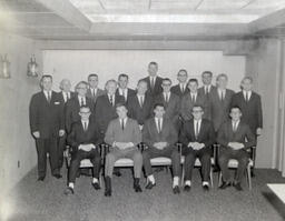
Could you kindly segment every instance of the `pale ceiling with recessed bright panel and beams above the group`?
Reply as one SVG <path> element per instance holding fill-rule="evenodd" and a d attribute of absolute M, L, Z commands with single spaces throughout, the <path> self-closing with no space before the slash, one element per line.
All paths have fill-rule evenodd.
<path fill-rule="evenodd" d="M 0 30 L 41 40 L 285 37 L 285 0 L 0 0 Z"/>

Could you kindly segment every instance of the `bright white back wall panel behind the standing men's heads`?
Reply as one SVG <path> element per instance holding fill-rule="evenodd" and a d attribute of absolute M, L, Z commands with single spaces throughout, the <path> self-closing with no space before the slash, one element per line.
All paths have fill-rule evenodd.
<path fill-rule="evenodd" d="M 176 83 L 179 69 L 186 69 L 190 77 L 200 79 L 200 73 L 210 70 L 214 74 L 225 72 L 229 77 L 229 88 L 238 90 L 245 72 L 245 57 L 223 56 L 222 51 L 176 51 L 176 50 L 45 50 L 43 72 L 53 73 L 55 89 L 62 78 L 75 86 L 86 80 L 90 72 L 99 74 L 100 88 L 108 79 L 119 73 L 128 73 L 130 87 L 147 76 L 149 61 L 159 64 L 159 74 Z"/>

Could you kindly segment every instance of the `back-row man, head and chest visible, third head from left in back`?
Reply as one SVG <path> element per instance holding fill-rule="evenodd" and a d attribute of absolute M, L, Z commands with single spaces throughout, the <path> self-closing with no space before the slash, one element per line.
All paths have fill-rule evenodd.
<path fill-rule="evenodd" d="M 91 99 L 92 103 L 96 103 L 98 97 L 105 94 L 106 92 L 98 88 L 98 74 L 91 73 L 88 76 L 89 88 L 87 90 L 86 97 Z"/>

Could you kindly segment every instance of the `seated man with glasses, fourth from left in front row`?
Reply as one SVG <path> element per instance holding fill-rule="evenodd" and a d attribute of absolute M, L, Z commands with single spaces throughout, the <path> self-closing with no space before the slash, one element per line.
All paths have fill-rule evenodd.
<path fill-rule="evenodd" d="M 179 141 L 183 143 L 185 155 L 185 191 L 190 191 L 191 172 L 198 158 L 202 164 L 203 189 L 209 190 L 210 153 L 215 143 L 215 131 L 213 123 L 203 119 L 203 107 L 196 104 L 191 109 L 193 119 L 185 121 Z"/>

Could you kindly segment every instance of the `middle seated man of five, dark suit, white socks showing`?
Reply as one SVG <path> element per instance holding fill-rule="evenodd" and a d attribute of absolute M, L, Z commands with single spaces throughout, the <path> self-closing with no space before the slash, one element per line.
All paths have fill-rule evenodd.
<path fill-rule="evenodd" d="M 156 185 L 150 159 L 158 157 L 170 158 L 173 162 L 173 192 L 179 193 L 180 154 L 175 144 L 178 141 L 177 131 L 173 121 L 164 118 L 165 107 L 157 103 L 154 107 L 155 117 L 146 121 L 142 129 L 142 142 L 147 149 L 142 152 L 144 168 L 146 170 L 148 184 L 146 189 Z"/>

